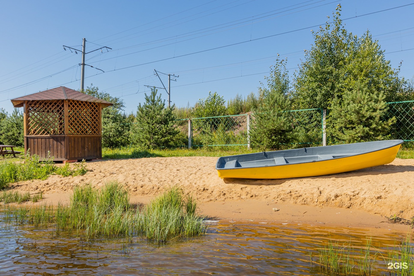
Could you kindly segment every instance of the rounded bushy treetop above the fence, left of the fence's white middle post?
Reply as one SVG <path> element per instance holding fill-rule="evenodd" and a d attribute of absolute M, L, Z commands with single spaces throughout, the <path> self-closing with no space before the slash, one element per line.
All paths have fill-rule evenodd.
<path fill-rule="evenodd" d="M 214 117 L 227 115 L 226 101 L 223 96 L 211 91 L 208 97 L 198 100 L 195 108 L 191 112 L 193 118 Z"/>

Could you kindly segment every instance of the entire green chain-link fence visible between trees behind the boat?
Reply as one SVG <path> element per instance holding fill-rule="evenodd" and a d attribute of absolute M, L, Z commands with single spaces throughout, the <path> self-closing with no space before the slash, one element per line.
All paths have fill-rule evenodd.
<path fill-rule="evenodd" d="M 414 141 L 414 101 L 388 103 L 388 117 L 397 119 L 392 125 L 391 138 Z M 298 144 L 323 144 L 322 108 L 289 110 Z M 182 136 L 182 146 L 247 146 L 250 115 L 227 115 L 218 117 L 175 120 Z M 254 120 L 254 115 L 251 115 Z M 190 130 L 190 135 L 189 135 Z"/>

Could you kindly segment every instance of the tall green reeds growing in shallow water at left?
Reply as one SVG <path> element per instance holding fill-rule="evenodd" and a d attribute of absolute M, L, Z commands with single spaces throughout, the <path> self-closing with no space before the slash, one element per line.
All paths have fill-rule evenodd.
<path fill-rule="evenodd" d="M 146 206 L 134 206 L 128 192 L 118 182 L 101 189 L 90 185 L 76 187 L 69 204 L 58 206 L 15 207 L 5 205 L 3 221 L 7 225 L 55 228 L 57 235 L 96 238 L 146 238 L 166 243 L 177 238 L 204 235 L 204 217 L 197 213 L 197 203 L 172 187 Z"/>

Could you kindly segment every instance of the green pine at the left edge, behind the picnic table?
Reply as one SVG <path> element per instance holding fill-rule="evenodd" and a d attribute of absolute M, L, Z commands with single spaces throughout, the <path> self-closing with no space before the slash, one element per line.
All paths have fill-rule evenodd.
<path fill-rule="evenodd" d="M 0 113 L 3 119 L 0 122 L 0 141 L 6 145 L 23 146 L 23 113 L 14 108 L 13 113 L 4 117 L 4 113 Z"/>

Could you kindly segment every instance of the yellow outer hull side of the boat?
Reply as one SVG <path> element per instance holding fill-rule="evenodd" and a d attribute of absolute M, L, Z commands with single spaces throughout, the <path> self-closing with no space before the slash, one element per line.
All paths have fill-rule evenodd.
<path fill-rule="evenodd" d="M 326 161 L 230 170 L 217 169 L 217 171 L 220 178 L 279 179 L 329 175 L 391 163 L 397 156 L 398 149 L 400 149 L 400 145 Z"/>

